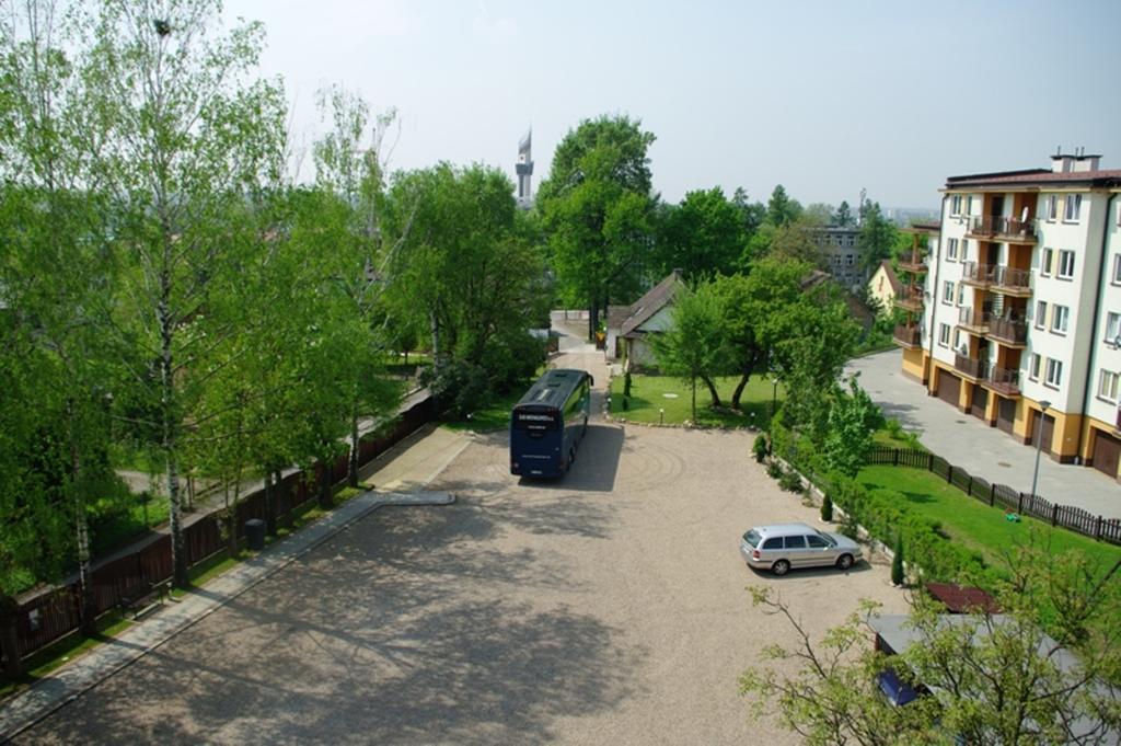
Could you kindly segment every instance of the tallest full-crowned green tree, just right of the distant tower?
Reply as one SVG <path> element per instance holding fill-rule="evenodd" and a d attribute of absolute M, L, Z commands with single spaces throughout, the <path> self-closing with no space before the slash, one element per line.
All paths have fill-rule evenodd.
<path fill-rule="evenodd" d="M 562 284 L 587 303 L 589 338 L 638 279 L 651 241 L 652 133 L 628 117 L 584 120 L 557 146 L 537 205 Z"/>

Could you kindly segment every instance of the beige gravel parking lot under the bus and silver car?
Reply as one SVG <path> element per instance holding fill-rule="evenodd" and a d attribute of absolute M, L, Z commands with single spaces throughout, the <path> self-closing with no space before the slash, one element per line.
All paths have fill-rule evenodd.
<path fill-rule="evenodd" d="M 882 565 L 744 565 L 745 527 L 816 523 L 750 443 L 595 422 L 568 477 L 519 483 L 506 434 L 476 436 L 433 485 L 456 505 L 374 513 L 21 739 L 798 743 L 736 693 L 790 639 L 744 587 L 818 632 L 906 601 Z"/>

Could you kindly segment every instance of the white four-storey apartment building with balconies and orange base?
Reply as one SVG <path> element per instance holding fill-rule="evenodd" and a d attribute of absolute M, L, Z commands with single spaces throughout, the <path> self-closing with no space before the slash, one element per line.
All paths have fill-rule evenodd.
<path fill-rule="evenodd" d="M 1099 164 L 947 178 L 929 256 L 900 265 L 925 282 L 897 302 L 896 341 L 932 395 L 1117 478 L 1121 171 Z"/>

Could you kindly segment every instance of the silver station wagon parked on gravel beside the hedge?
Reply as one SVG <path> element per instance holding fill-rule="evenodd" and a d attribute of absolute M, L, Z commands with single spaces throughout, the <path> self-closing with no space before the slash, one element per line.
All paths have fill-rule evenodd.
<path fill-rule="evenodd" d="M 785 575 L 790 568 L 836 565 L 847 570 L 860 559 L 860 544 L 841 534 L 817 531 L 804 523 L 756 526 L 743 534 L 740 554 L 756 570 Z"/>

